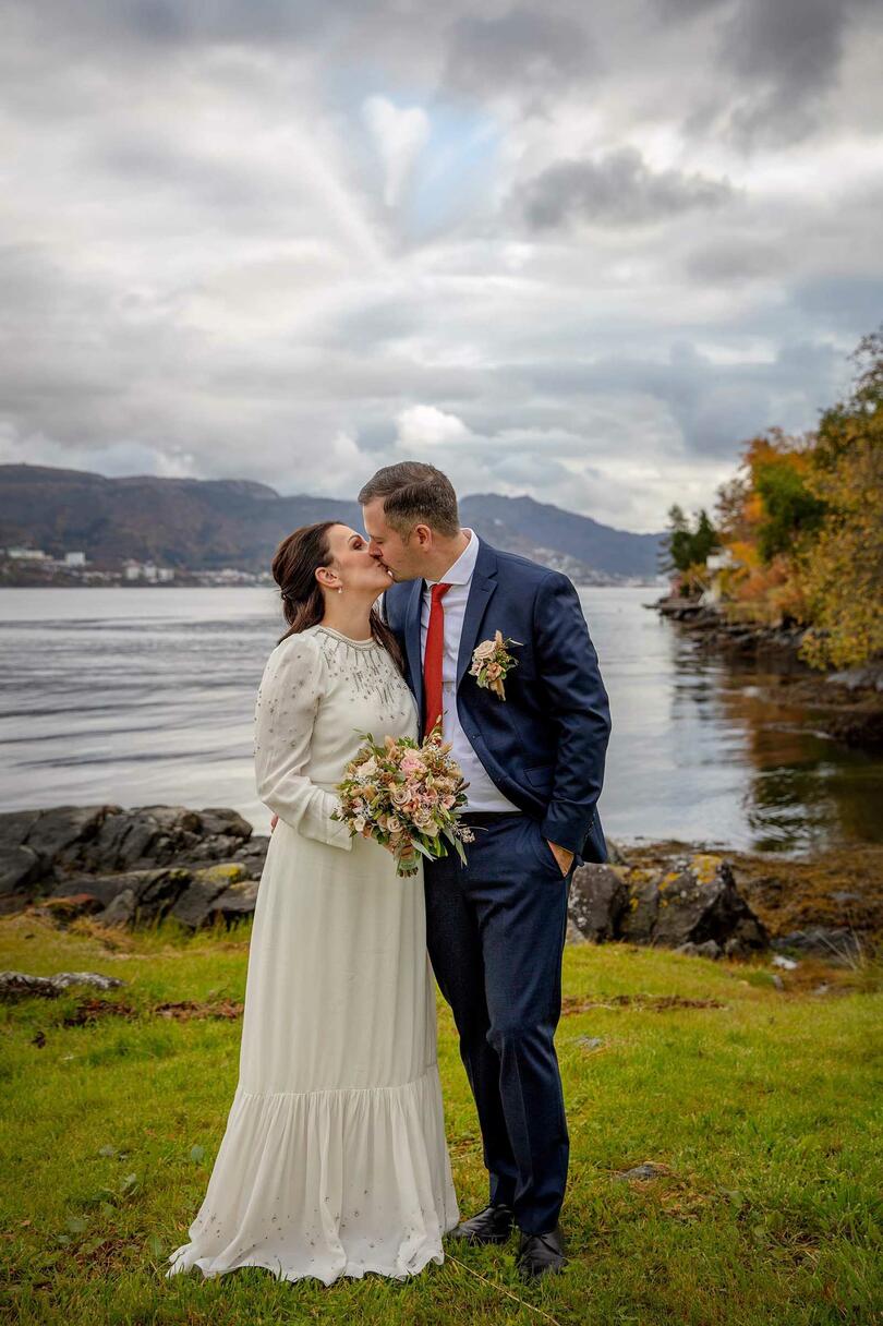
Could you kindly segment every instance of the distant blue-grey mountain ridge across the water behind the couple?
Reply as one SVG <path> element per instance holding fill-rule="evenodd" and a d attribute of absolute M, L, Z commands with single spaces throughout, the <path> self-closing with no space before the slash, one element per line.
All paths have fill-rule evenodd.
<path fill-rule="evenodd" d="M 659 534 L 631 534 L 532 497 L 477 493 L 463 522 L 497 548 L 559 566 L 582 581 L 654 579 Z M 265 484 L 220 479 L 106 479 L 78 469 L 0 465 L 0 546 L 81 549 L 97 566 L 127 558 L 179 570 L 259 572 L 298 525 L 339 518 L 361 528 L 357 503 L 282 497 Z"/>

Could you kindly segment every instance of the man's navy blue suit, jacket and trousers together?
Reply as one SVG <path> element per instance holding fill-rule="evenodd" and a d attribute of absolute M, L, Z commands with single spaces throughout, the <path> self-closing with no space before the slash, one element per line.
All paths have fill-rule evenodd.
<path fill-rule="evenodd" d="M 420 713 L 423 589 L 416 579 L 384 594 Z M 475 646 L 497 630 L 521 642 L 509 646 L 517 667 L 505 700 L 469 675 Z M 491 1200 L 512 1205 L 525 1233 L 544 1233 L 557 1223 L 567 1176 L 554 1050 L 567 894 L 575 866 L 607 859 L 597 801 L 610 705 L 566 575 L 479 540 L 456 704 L 475 753 L 518 810 L 475 826 L 465 866 L 453 853 L 424 862 L 427 945 L 460 1036 Z M 545 839 L 574 853 L 567 875 Z"/>

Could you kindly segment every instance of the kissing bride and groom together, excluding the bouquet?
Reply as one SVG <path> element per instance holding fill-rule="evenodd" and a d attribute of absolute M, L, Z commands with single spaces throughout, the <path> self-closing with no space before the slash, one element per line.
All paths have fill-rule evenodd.
<path fill-rule="evenodd" d="M 609 697 L 570 579 L 463 529 L 439 469 L 384 467 L 358 500 L 365 534 L 322 521 L 273 560 L 289 629 L 255 708 L 274 822 L 239 1085 L 166 1274 L 403 1278 L 444 1260 L 443 1236 L 504 1244 L 517 1231 L 518 1272 L 534 1280 L 567 1261 L 554 1032 L 573 871 L 607 858 Z M 471 670 L 497 631 L 514 658 L 505 691 Z M 403 878 L 367 831 L 333 818 L 335 788 L 361 735 L 422 739 L 439 717 L 473 841 L 465 865 L 451 853 Z M 468 1219 L 444 1134 L 436 981 L 489 1177 Z"/>

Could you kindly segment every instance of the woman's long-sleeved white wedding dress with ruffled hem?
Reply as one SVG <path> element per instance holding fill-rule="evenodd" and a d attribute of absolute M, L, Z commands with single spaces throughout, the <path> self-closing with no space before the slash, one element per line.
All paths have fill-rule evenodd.
<path fill-rule="evenodd" d="M 423 871 L 330 818 L 361 743 L 416 736 L 375 640 L 312 626 L 278 644 L 255 711 L 278 814 L 255 910 L 239 1085 L 202 1207 L 166 1276 L 265 1266 L 330 1285 L 442 1262 L 459 1220 L 436 1063 Z"/>

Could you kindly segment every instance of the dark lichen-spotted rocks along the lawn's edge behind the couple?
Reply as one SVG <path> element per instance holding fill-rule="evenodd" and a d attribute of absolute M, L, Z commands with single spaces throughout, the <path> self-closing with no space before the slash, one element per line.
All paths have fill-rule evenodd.
<path fill-rule="evenodd" d="M 269 838 L 235 810 L 57 806 L 0 815 L 0 916 L 184 930 L 248 918 Z M 670 841 L 610 842 L 574 874 L 569 939 L 709 957 L 770 948 L 854 961 L 883 935 L 883 847 L 781 858 Z"/>

